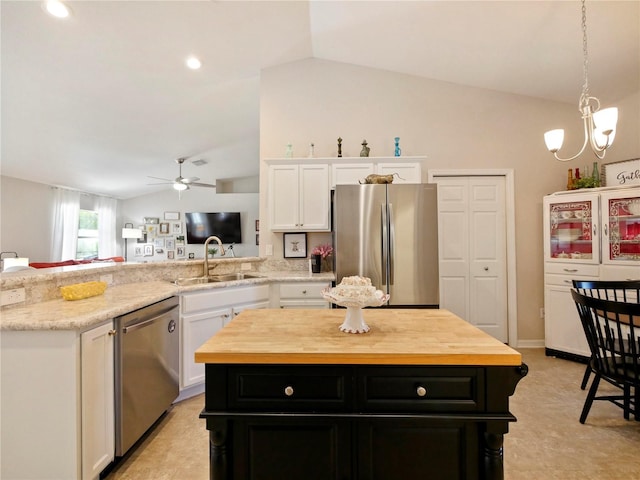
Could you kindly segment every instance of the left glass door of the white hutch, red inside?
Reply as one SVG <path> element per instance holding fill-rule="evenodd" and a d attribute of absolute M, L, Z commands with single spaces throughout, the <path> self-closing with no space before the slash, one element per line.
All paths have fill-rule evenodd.
<path fill-rule="evenodd" d="M 599 263 L 597 195 L 546 197 L 544 206 L 546 260 Z"/>

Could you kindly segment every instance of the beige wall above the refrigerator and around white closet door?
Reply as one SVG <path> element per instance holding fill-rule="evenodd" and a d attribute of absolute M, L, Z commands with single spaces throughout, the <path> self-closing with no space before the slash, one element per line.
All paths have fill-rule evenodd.
<path fill-rule="evenodd" d="M 579 85 L 576 86 L 576 89 Z M 576 105 L 427 80 L 410 75 L 322 60 L 305 60 L 267 69 L 260 84 L 260 156 L 283 157 L 293 144 L 294 156 L 358 156 L 366 139 L 371 156 L 393 155 L 400 137 L 403 155 L 426 155 L 427 169 L 511 168 L 515 172 L 518 337 L 544 338 L 539 309 L 544 304 L 542 197 L 564 189 L 568 167 L 584 168 L 593 155 L 569 164 L 547 152 L 543 133 L 565 128 L 573 154 L 581 143 L 582 124 Z M 595 93 L 595 92 L 594 92 Z M 603 99 L 603 104 L 608 106 Z M 640 156 L 640 99 L 617 102 L 620 129 L 607 161 Z M 261 164 L 260 218 L 267 225 L 266 167 Z M 262 233 L 262 232 L 261 232 Z M 281 234 L 262 233 L 282 256 Z M 313 246 L 325 237 L 311 235 Z"/>

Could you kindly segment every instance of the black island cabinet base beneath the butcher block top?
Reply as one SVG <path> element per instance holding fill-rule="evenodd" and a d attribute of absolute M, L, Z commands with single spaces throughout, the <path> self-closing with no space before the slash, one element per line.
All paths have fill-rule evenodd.
<path fill-rule="evenodd" d="M 515 421 L 508 397 L 526 365 L 264 368 L 260 376 L 260 366 L 207 365 L 200 416 L 211 480 L 504 478 L 503 436 Z M 410 393 L 404 380 L 426 393 Z"/>

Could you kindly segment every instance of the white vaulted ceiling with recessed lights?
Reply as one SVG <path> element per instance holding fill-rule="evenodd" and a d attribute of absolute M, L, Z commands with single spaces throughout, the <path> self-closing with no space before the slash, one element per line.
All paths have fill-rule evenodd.
<path fill-rule="evenodd" d="M 576 104 L 579 1 L 0 2 L 2 175 L 129 198 L 257 175 L 262 69 L 307 58 Z M 640 2 L 588 1 L 591 91 L 640 88 Z M 198 71 L 184 59 L 197 55 Z"/>

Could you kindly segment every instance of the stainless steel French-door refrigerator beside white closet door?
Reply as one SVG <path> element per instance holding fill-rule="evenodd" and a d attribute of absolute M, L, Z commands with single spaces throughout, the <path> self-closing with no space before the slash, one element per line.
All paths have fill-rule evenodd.
<path fill-rule="evenodd" d="M 337 185 L 333 207 L 336 283 L 361 275 L 389 306 L 438 306 L 436 184 Z"/>

